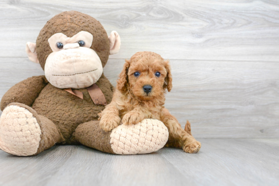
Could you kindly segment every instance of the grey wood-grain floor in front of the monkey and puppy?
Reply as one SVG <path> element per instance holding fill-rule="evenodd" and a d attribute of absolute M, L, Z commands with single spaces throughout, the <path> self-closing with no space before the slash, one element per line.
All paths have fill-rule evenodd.
<path fill-rule="evenodd" d="M 56 146 L 34 157 L 0 151 L 0 185 L 278 185 L 279 140 L 204 139 L 201 151 L 111 155 Z"/>

